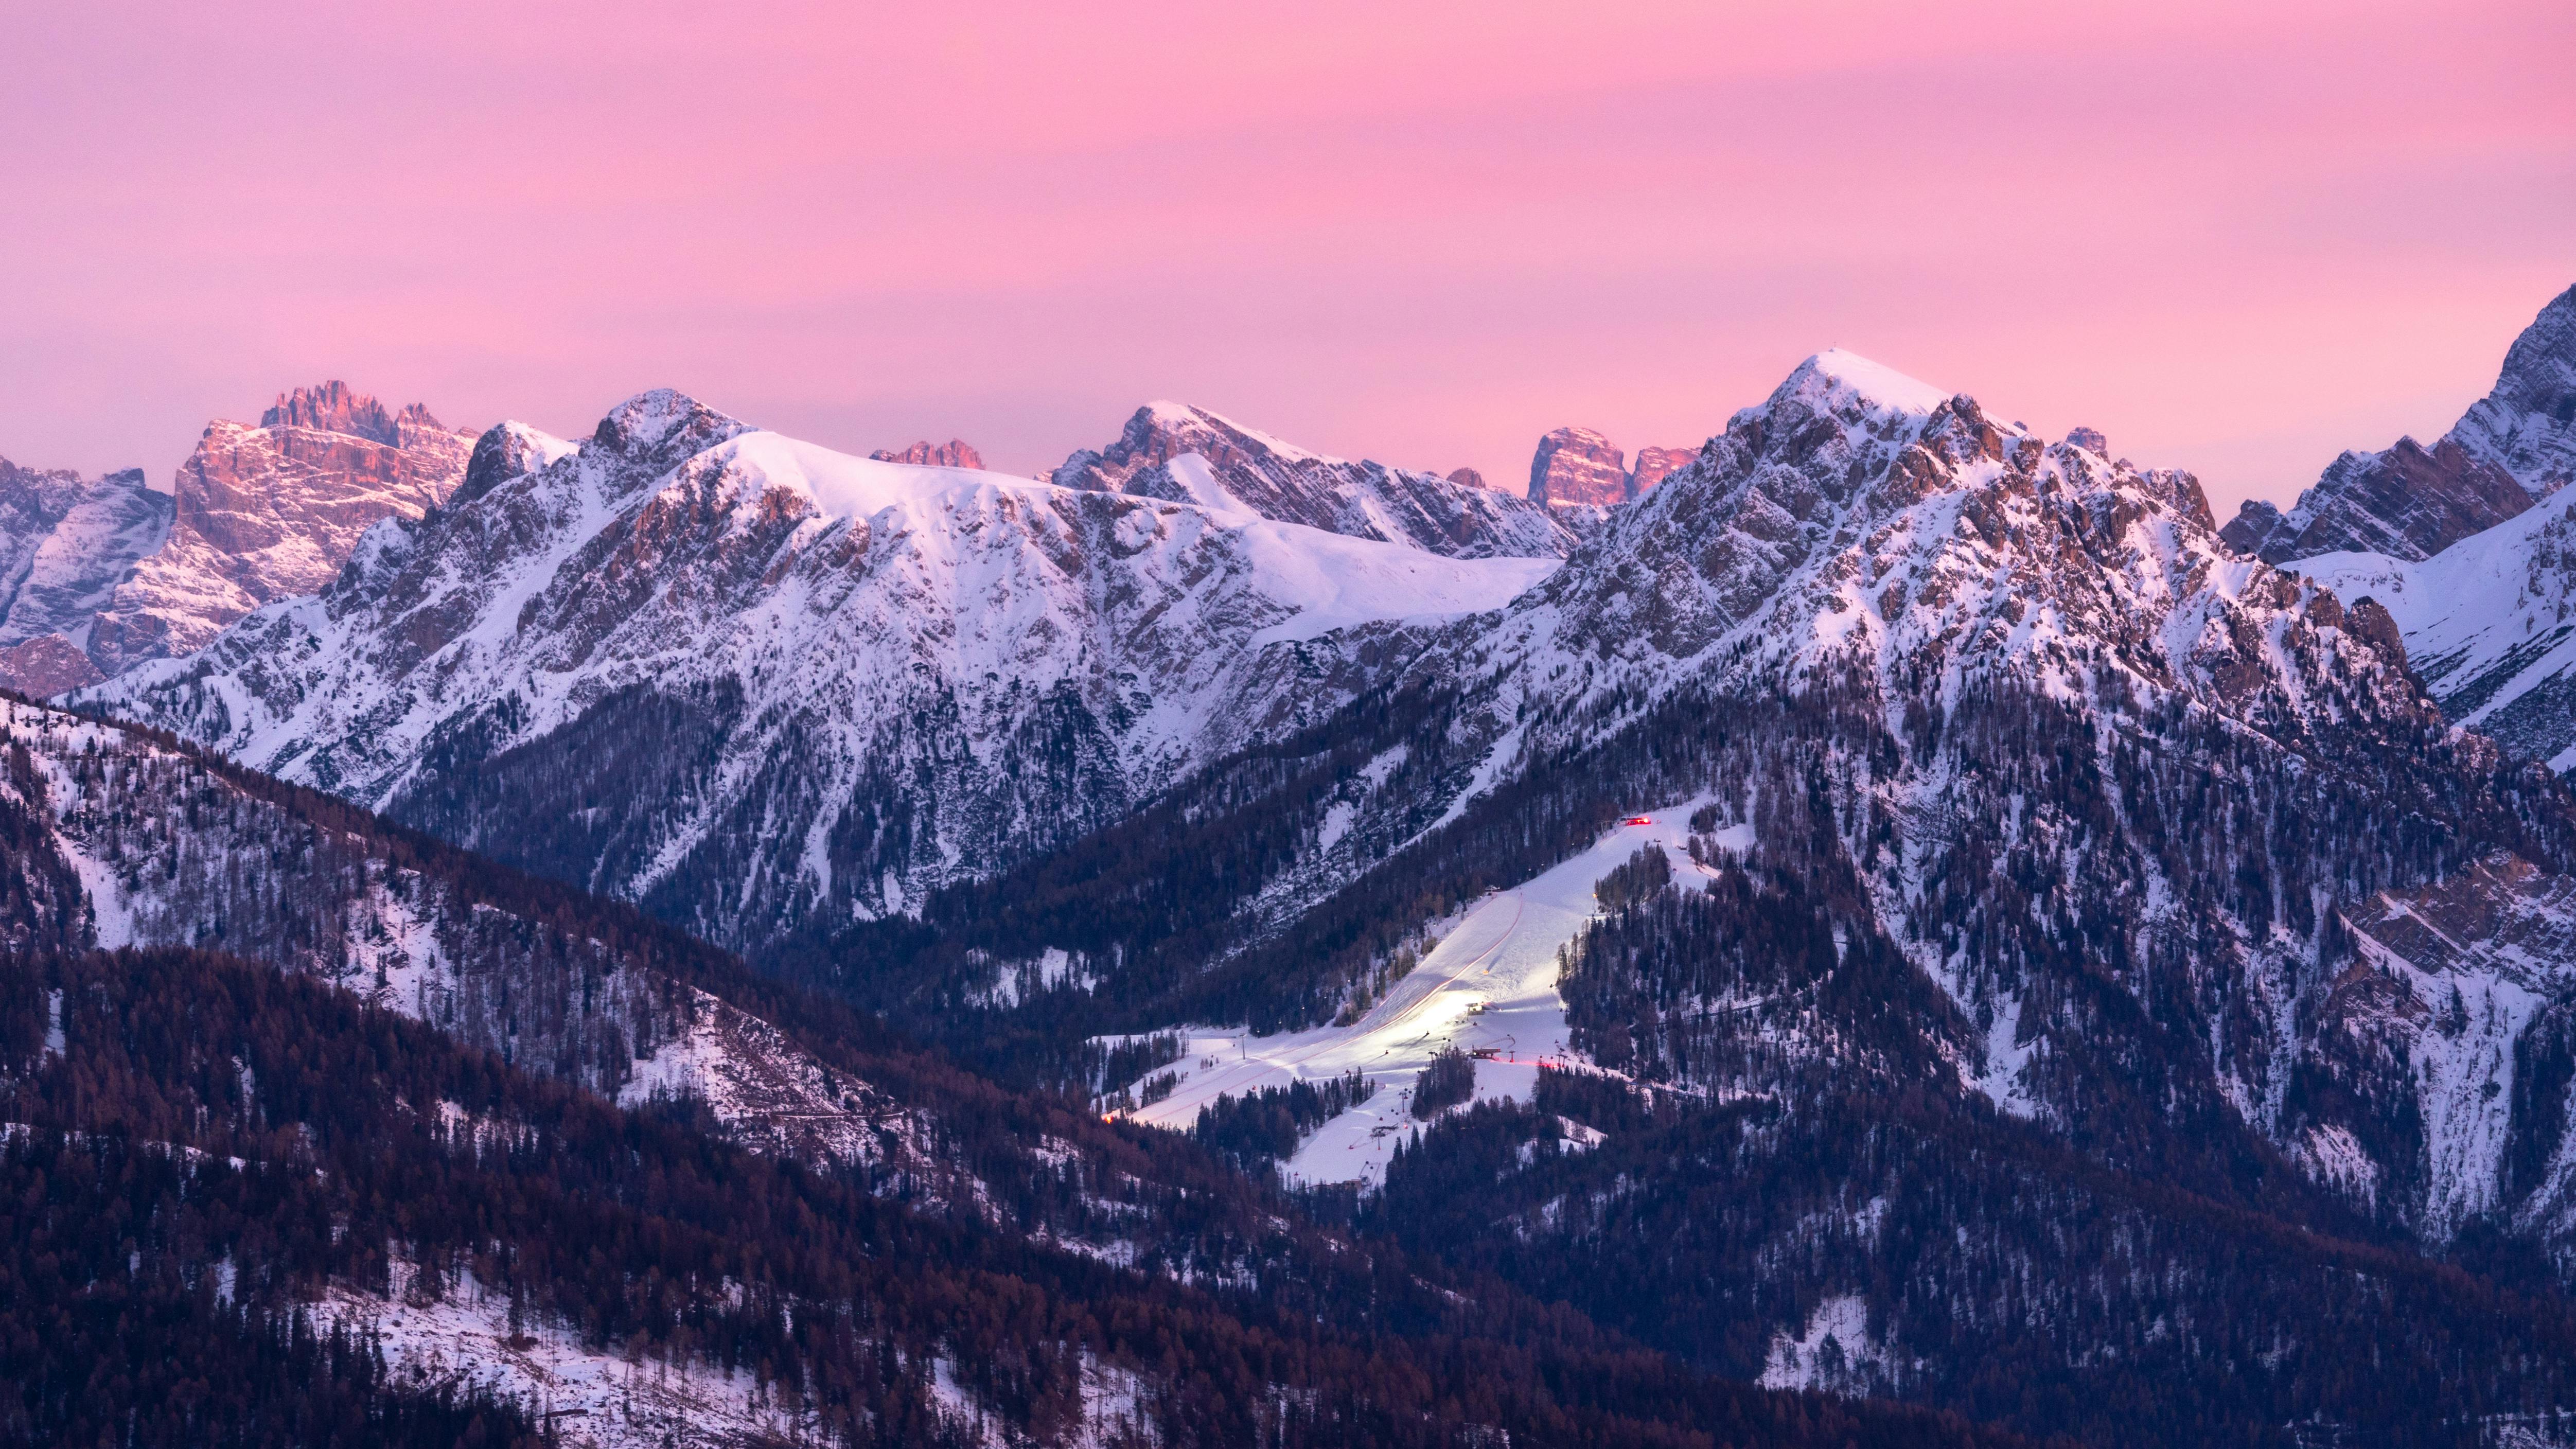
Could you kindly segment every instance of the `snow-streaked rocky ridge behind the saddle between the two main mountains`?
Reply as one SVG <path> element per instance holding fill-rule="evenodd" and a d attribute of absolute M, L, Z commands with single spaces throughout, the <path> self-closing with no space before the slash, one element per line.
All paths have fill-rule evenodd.
<path fill-rule="evenodd" d="M 1564 558 L 1589 512 L 1556 515 L 1437 474 L 1329 458 L 1200 407 L 1154 401 L 1056 468 L 1066 489 L 1193 502 L 1450 558 Z"/>

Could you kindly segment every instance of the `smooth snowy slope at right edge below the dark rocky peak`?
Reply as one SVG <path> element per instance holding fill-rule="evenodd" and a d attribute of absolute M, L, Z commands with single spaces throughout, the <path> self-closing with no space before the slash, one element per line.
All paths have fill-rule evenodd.
<path fill-rule="evenodd" d="M 2576 489 L 2432 558 L 2324 553 L 2298 569 L 2385 605 L 2452 723 L 2576 770 Z"/>

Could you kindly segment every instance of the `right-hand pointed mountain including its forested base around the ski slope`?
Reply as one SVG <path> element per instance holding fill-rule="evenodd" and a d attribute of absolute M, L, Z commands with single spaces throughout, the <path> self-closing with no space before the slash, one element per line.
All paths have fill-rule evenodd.
<path fill-rule="evenodd" d="M 917 927 L 850 927 L 788 965 L 994 1055 L 1048 1029 L 1296 1029 L 1236 1048 L 1288 1078 L 1368 1071 L 1345 1048 L 1386 1024 L 1376 1001 L 1409 1009 L 1406 973 L 1437 970 L 1448 1009 L 1406 1014 L 1406 1045 L 1504 1050 L 1476 1006 L 1528 1027 L 1522 988 L 1548 973 L 1515 957 L 1504 981 L 1479 955 L 1486 916 L 1520 921 L 1515 898 L 1633 816 L 1690 818 L 1692 867 L 1602 880 L 1605 906 L 1625 893 L 1646 914 L 1625 937 L 1571 927 L 1553 975 L 1569 1035 L 1543 1050 L 1656 1086 L 1674 1145 L 1584 1156 L 1548 1102 L 1499 1143 L 1432 1130 L 1406 1161 L 1445 1186 L 1404 1210 L 1437 1225 L 1414 1238 L 1427 1251 L 1605 1315 L 1669 1305 L 1631 1323 L 1734 1372 L 1770 1367 L 1785 1333 L 1780 1374 L 1806 1374 L 1832 1323 L 1865 1323 L 1891 1374 L 1801 1382 L 1994 1405 L 2009 1361 L 2012 1382 L 2050 1385 L 1999 1410 L 2020 1428 L 2102 1434 L 2125 1416 L 2102 1405 L 2130 1405 L 2166 1444 L 2280 1441 L 2316 1413 L 2439 1428 L 2421 1395 L 2450 1328 L 2249 1302 L 2213 1259 L 2269 1243 L 2285 1256 L 2257 1277 L 2316 1282 L 2321 1248 L 2298 1243 L 2326 1235 L 2414 1264 L 2434 1295 L 2447 1269 L 2419 1253 L 2566 1261 L 2550 1184 L 2576 1153 L 2548 1063 L 2568 1055 L 2553 1004 L 2576 983 L 2496 952 L 2558 939 L 2568 790 L 2452 736 L 2388 610 L 2223 546 L 2187 474 L 2097 438 L 2043 443 L 1850 355 L 1801 365 L 1558 574 L 1453 623 L 1329 723 L 935 893 Z M 2478 870 L 2514 898 L 2432 896 Z M 2416 909 L 2496 952 L 2406 957 L 2406 991 L 2354 993 L 2385 981 L 2372 952 L 2401 950 L 2372 945 L 2383 924 Z M 1041 960 L 1074 970 L 1023 970 Z M 997 991 L 1015 973 L 1023 988 Z M 2380 1032 L 2409 1001 L 2447 1011 L 2452 986 L 2460 1035 Z M 1198 1050 L 1213 1066 L 1157 1081 L 1236 1071 Z M 1321 1156 L 1347 1171 L 1363 1148 Z M 1409 1171 L 1391 1166 L 1388 1192 Z M 1772 1210 L 1731 1181 L 1798 1207 L 1752 1228 Z M 1677 1233 L 1690 1204 L 1726 1228 Z M 2123 1223 L 2133 1271 L 2050 1238 L 2066 1217 Z M 1904 1238 L 1862 1230 L 1880 1220 Z M 1914 1282 L 1937 1287 L 1909 1305 Z M 2099 1310 L 2017 1287 L 2058 1282 Z M 2478 1318 L 2481 1292 L 2427 1323 Z M 2537 1313 L 2532 1331 L 2558 1333 L 2537 1323 L 2561 1310 Z M 2298 1346 L 2244 1392 L 2184 1392 L 2246 1369 L 2210 1338 L 2130 1338 L 2159 1318 Z M 2349 1351 L 2411 1364 L 2391 1382 L 2416 1390 L 2336 1380 Z M 2476 1392 L 2522 1413 L 2558 1390 L 2494 1374 Z"/>

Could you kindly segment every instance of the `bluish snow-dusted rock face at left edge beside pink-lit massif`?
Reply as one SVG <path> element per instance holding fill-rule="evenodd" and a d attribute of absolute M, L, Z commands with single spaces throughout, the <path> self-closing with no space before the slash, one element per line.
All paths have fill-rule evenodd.
<path fill-rule="evenodd" d="M 0 687 L 52 695 L 98 677 L 70 656 L 85 651 L 134 564 L 170 535 L 170 494 L 144 486 L 142 468 L 80 479 L 0 458 Z"/>

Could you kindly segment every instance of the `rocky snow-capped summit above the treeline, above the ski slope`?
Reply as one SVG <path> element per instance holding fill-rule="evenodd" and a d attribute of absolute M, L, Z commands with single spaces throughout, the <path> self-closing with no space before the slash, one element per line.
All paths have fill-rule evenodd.
<path fill-rule="evenodd" d="M 1540 597 L 1574 631 L 1556 649 L 1649 664 L 1723 651 L 1795 674 L 1857 651 L 1940 677 L 1976 654 L 2066 679 L 2099 646 L 2161 654 L 2166 610 L 2221 587 L 2223 558 L 2190 474 L 2043 443 L 1971 396 L 1821 353 L 1618 510 Z M 2290 584 L 2223 587 L 2264 592 L 2269 613 Z M 2172 664 L 2239 679 L 2259 659 L 2228 633 Z"/>

